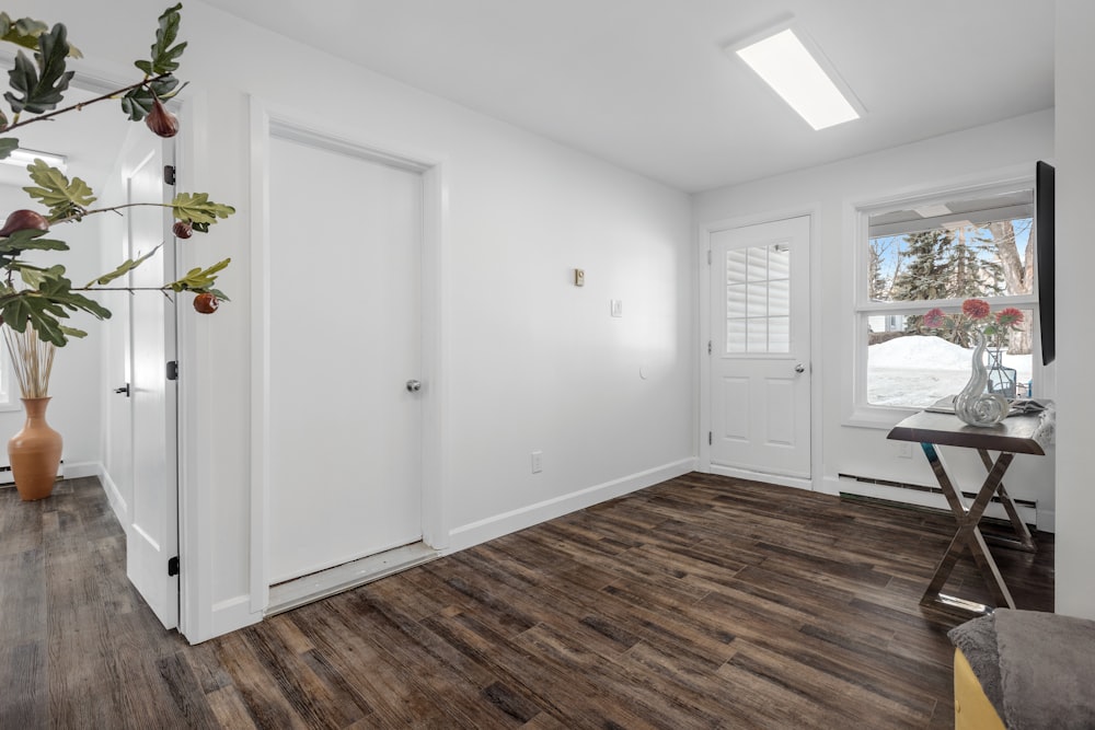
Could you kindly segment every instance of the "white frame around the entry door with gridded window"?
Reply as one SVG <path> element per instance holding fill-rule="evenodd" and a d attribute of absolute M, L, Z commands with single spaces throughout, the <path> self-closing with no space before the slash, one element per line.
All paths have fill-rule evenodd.
<path fill-rule="evenodd" d="M 779 484 L 787 487 L 798 487 L 803 489 L 817 489 L 820 475 L 822 473 L 821 462 L 821 394 L 822 382 L 822 349 L 820 341 L 821 333 L 821 245 L 819 236 L 820 204 L 806 208 L 789 208 L 774 212 L 756 213 L 751 216 L 737 216 L 708 223 L 701 223 L 696 231 L 696 321 L 698 335 L 696 348 L 699 354 L 699 404 L 696 413 L 699 415 L 695 429 L 696 461 L 701 472 L 713 474 L 711 463 L 711 444 L 707 443 L 707 433 L 712 430 L 711 409 L 711 357 L 707 354 L 707 340 L 711 339 L 711 264 L 707 260 L 707 252 L 711 251 L 711 235 L 716 231 L 745 228 L 761 223 L 774 223 L 788 218 L 799 218 L 806 216 L 810 219 L 809 236 L 809 305 L 810 305 L 810 478 L 797 479 L 794 477 L 775 474 L 745 474 L 747 478 L 756 478 L 770 484 Z M 721 472 L 724 470 L 719 470 Z"/>

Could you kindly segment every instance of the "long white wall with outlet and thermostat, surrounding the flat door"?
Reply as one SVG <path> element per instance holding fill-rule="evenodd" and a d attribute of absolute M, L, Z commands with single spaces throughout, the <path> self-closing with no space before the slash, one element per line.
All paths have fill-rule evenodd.
<path fill-rule="evenodd" d="M 47 10 L 22 1 L 8 12 L 62 16 L 100 69 L 128 73 L 147 53 L 158 11 L 139 0 L 115 5 L 110 18 L 76 0 Z M 182 327 L 191 398 L 182 426 L 188 638 L 258 618 L 251 601 L 249 94 L 304 125 L 445 161 L 450 395 L 442 436 L 453 548 L 691 468 L 685 195 L 199 2 L 186 3 L 182 32 L 189 46 L 181 76 L 192 82 L 180 136 L 183 187 L 240 211 L 186 250 L 187 263 L 233 257 L 222 279 L 233 302 Z M 353 227 L 347 211 L 316 215 L 343 216 Z M 314 266 L 322 270 L 322 262 Z M 575 267 L 586 270 L 585 288 L 570 285 Z M 303 286 L 321 280 L 310 276 Z M 323 306 L 322 289 L 314 296 Z M 623 300 L 622 318 L 609 316 L 610 299 Z M 353 297 L 345 304 L 351 316 Z M 533 449 L 544 459 L 535 476 Z"/>

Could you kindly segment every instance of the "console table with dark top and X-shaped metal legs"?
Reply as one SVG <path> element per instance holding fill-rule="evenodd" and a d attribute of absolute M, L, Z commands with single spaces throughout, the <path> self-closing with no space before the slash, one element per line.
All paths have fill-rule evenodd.
<path fill-rule="evenodd" d="M 927 590 L 924 591 L 924 595 L 920 600 L 922 605 L 935 605 L 975 614 L 992 611 L 993 606 L 942 593 L 955 564 L 963 552 L 968 549 L 981 571 L 996 606 L 1015 607 L 1012 594 L 1008 592 L 1007 586 L 1004 584 L 995 560 L 989 553 L 978 523 L 981 521 L 989 501 L 995 496 L 1003 503 L 1015 530 L 1015 538 L 1006 541 L 1006 543 L 1019 549 L 1029 552 L 1036 549 L 1030 531 L 1019 518 L 1014 500 L 1004 488 L 1004 473 L 1015 454 L 1045 455 L 1042 447 L 1052 436 L 1052 428 L 1048 426 L 1051 422 L 1052 412 L 1049 410 L 1040 414 L 1010 416 L 996 426 L 982 428 L 967 426 L 954 413 L 929 409 L 909 416 L 890 430 L 889 436 L 887 436 L 889 439 L 920 443 L 958 524 L 947 552 L 936 566 Z M 955 486 L 954 479 L 943 465 L 938 447 L 976 449 L 981 457 L 981 463 L 984 464 L 988 475 L 973 502 L 968 508 L 963 501 L 961 491 Z M 995 460 L 990 456 L 990 451 L 999 453 Z"/>

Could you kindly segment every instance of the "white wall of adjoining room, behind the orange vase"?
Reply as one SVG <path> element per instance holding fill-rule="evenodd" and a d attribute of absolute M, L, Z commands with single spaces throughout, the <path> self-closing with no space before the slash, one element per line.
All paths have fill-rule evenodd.
<path fill-rule="evenodd" d="M 27 185 L 30 184 L 28 178 Z M 44 211 L 20 187 L 0 185 L 0 212 L 5 216 L 20 208 Z M 68 277 L 76 286 L 99 275 L 94 224 L 89 221 L 65 223 L 56 225 L 50 235 L 68 243 L 71 250 L 34 253 L 27 256 L 30 259 L 48 266 L 64 264 Z M 84 339 L 70 339 L 69 345 L 58 349 L 54 356 L 54 370 L 49 379 L 49 395 L 53 399 L 49 402 L 46 420 L 60 432 L 65 441 L 61 459 L 65 462 L 65 474 L 72 477 L 97 472 L 102 374 L 97 344 L 101 323 L 91 315 L 72 314 L 70 324 L 89 335 Z M 14 382 L 12 397 L 13 409 L 0 410 L 0 442 L 3 443 L 22 428 L 24 421 L 19 385 Z M 8 463 L 8 452 L 2 448 L 0 463 Z"/>

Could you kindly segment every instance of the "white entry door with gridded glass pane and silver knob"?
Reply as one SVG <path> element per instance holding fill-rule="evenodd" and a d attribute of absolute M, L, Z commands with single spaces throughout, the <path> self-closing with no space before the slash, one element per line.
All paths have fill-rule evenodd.
<path fill-rule="evenodd" d="M 810 476 L 809 217 L 713 231 L 711 465 Z"/>

